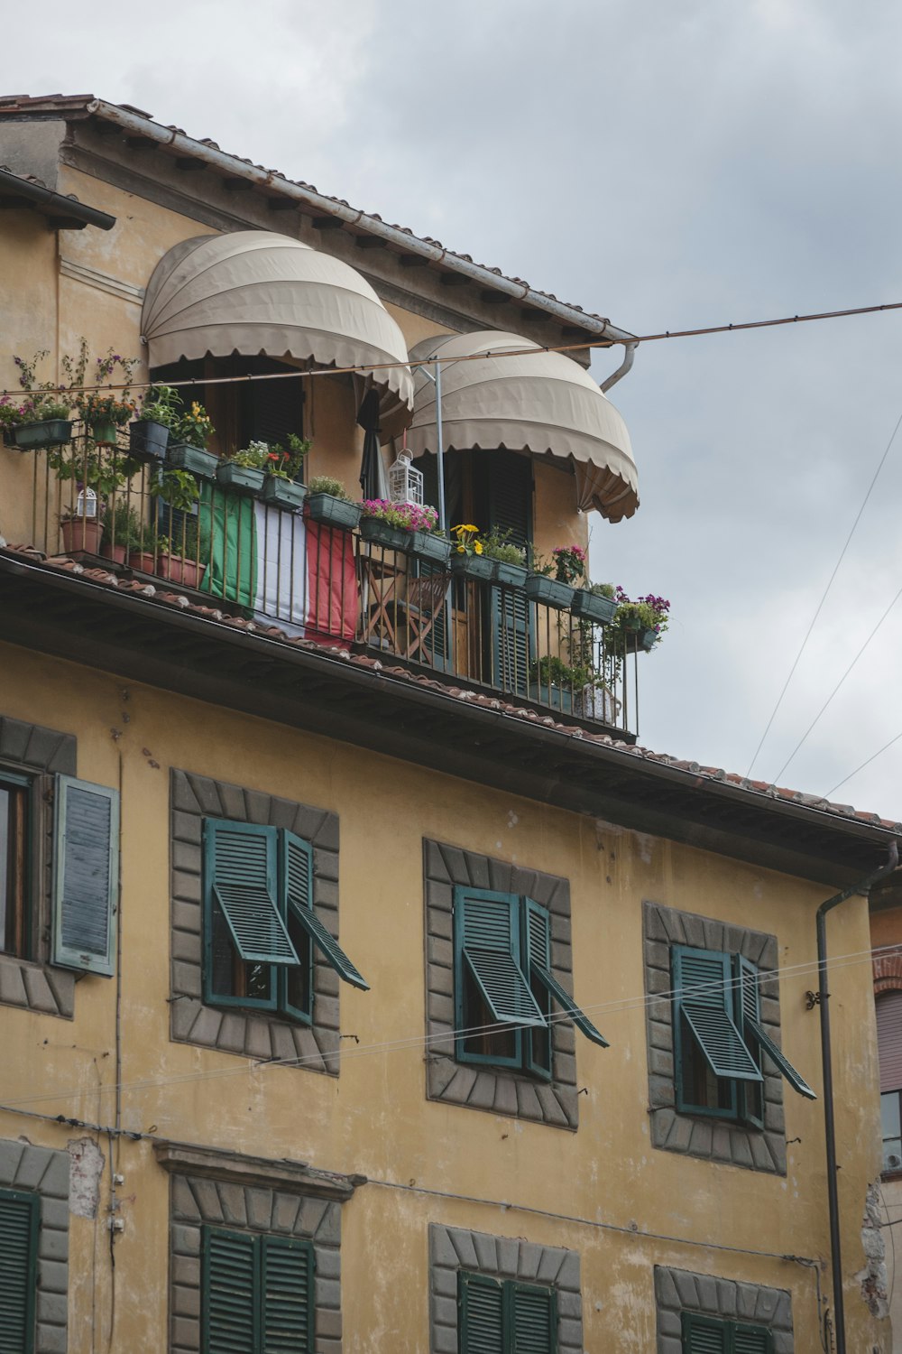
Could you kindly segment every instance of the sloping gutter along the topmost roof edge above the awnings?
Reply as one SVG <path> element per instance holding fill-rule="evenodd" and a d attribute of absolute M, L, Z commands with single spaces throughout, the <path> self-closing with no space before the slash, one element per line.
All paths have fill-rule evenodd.
<path fill-rule="evenodd" d="M 534 306 L 536 310 L 545 311 L 545 314 L 564 325 L 579 325 L 580 329 L 586 329 L 595 338 L 607 338 L 611 343 L 622 344 L 633 343 L 634 347 L 636 334 L 627 333 L 626 329 L 617 329 L 607 320 L 590 315 L 575 306 L 567 306 L 552 297 L 544 295 L 541 291 L 534 291 L 525 282 L 514 282 L 511 278 L 492 272 L 491 268 L 484 268 L 481 264 L 452 253 L 452 250 L 445 249 L 442 245 L 429 244 L 426 240 L 407 234 L 399 226 L 389 226 L 377 217 L 349 207 L 343 202 L 335 202 L 333 198 L 315 192 L 303 184 L 292 183 L 291 179 L 285 179 L 284 175 L 276 173 L 273 169 L 261 169 L 257 165 L 245 164 L 243 160 L 226 154 L 215 146 L 210 146 L 203 141 L 193 141 L 184 131 L 164 127 L 158 122 L 150 122 L 147 118 L 141 118 L 138 114 L 128 112 L 115 103 L 107 103 L 104 99 L 92 99 L 87 106 L 87 111 L 103 118 L 105 122 L 114 122 L 131 137 L 143 137 L 146 141 L 154 141 L 173 153 L 191 156 L 193 160 L 210 165 L 211 169 L 219 169 L 220 173 L 230 179 L 246 179 L 258 188 L 277 191 L 285 198 L 292 198 L 299 207 L 304 207 L 307 211 L 335 217 L 349 226 L 360 226 L 368 234 L 395 245 L 407 255 L 419 255 L 427 263 L 441 264 L 450 272 L 457 272 L 471 282 L 479 283 L 481 287 L 491 287 L 494 291 L 500 291 L 503 295 Z M 617 380 L 626 375 L 632 364 L 633 359 L 630 356 L 629 364 L 625 362 L 619 371 L 614 372 Z M 609 378 L 609 382 L 613 385 L 611 378 Z"/>

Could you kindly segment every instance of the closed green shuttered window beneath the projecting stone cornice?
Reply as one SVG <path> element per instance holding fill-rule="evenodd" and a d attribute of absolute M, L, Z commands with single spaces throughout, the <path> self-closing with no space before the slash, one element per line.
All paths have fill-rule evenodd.
<path fill-rule="evenodd" d="M 314 1347 L 314 1247 L 293 1236 L 204 1227 L 203 1354 Z"/>

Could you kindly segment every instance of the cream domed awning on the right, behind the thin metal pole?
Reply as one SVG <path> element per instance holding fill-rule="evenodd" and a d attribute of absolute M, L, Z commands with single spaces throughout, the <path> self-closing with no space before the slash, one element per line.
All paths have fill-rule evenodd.
<path fill-rule="evenodd" d="M 514 356 L 511 349 L 536 349 Z M 442 435 L 446 451 L 506 447 L 567 460 L 576 475 L 576 505 L 610 521 L 638 508 L 638 477 L 626 424 L 598 385 L 571 357 L 545 352 L 518 334 L 484 329 L 437 334 L 411 349 L 411 364 L 442 362 Z M 435 386 L 415 379 L 414 422 L 407 432 L 415 455 L 435 451 Z"/>

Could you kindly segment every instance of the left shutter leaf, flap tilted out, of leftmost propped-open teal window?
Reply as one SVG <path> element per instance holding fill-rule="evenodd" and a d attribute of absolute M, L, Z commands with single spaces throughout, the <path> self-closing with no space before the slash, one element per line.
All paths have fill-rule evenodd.
<path fill-rule="evenodd" d="M 298 964 L 276 904 L 276 829 L 204 819 L 207 880 L 238 955 L 258 964 Z"/>

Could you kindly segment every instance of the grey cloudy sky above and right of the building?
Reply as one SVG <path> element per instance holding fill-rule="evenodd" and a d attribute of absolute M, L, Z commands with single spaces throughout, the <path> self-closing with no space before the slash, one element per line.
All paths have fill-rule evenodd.
<path fill-rule="evenodd" d="M 4 38 L 8 92 L 133 103 L 640 334 L 902 299 L 888 0 L 45 0 Z M 642 506 L 594 519 L 592 563 L 672 601 L 646 746 L 749 769 L 901 353 L 902 311 L 638 351 L 613 398 Z M 902 588 L 899 502 L 902 432 L 756 777 L 829 793 L 902 734 L 901 600 L 792 756 Z M 902 737 L 832 798 L 902 819 Z"/>

